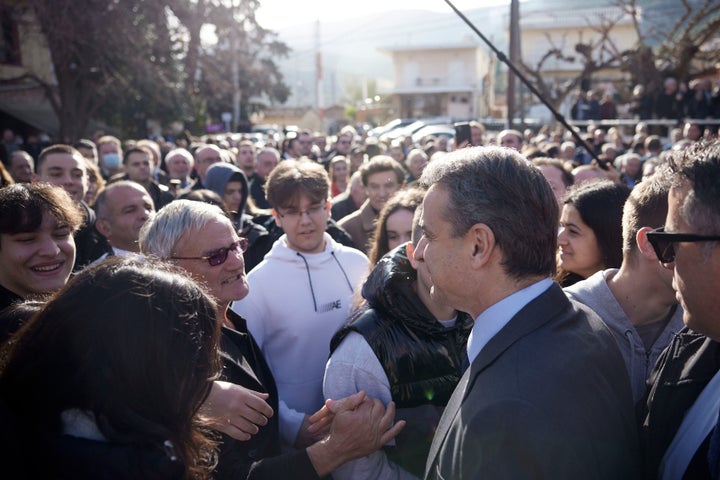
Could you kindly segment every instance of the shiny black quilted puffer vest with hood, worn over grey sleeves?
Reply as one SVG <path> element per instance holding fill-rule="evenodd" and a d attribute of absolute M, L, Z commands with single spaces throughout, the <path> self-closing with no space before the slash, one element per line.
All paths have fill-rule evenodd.
<path fill-rule="evenodd" d="M 363 285 L 367 307 L 335 334 L 330 349 L 350 331 L 368 342 L 390 382 L 397 418 L 407 421 L 385 453 L 422 476 L 435 427 L 462 376 L 473 319 L 460 312 L 455 326 L 443 327 L 415 293 L 416 278 L 404 245 L 385 255 Z"/>

